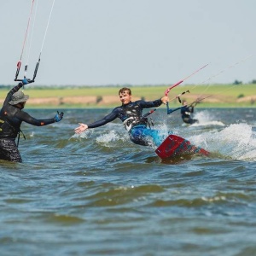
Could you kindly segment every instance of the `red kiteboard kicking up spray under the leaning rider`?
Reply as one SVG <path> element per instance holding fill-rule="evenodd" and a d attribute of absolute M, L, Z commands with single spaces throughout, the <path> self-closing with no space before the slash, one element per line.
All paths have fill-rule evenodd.
<path fill-rule="evenodd" d="M 155 149 L 155 153 L 160 156 L 161 159 L 180 156 L 183 154 L 202 154 L 208 156 L 208 152 L 204 148 L 196 147 L 192 145 L 188 140 L 177 135 L 169 135 L 165 141 Z"/>

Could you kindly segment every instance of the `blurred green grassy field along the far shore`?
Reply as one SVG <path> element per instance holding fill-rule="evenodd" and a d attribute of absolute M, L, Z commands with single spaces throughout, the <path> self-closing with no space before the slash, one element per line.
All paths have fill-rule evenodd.
<path fill-rule="evenodd" d="M 172 85 L 172 84 L 171 84 Z M 164 93 L 169 85 L 150 85 L 150 86 L 130 86 L 132 96 L 151 101 L 164 96 Z M 78 96 L 96 96 L 98 98 L 104 96 L 114 96 L 119 99 L 118 91 L 123 86 L 67 86 L 67 87 L 48 87 L 26 85 L 25 94 L 28 94 L 31 99 L 39 98 L 59 98 Z M 10 88 L 2 88 L 0 90 L 0 98 L 3 100 Z M 208 85 L 178 85 L 169 93 L 171 107 L 178 107 L 180 103 L 175 96 L 183 91 L 189 90 L 189 93 L 184 94 L 181 98 L 187 102 L 194 102 L 197 97 L 210 96 L 203 100 L 198 108 L 256 108 L 256 84 L 208 84 Z M 118 106 L 117 102 L 90 102 L 90 103 L 73 103 L 66 104 L 65 101 L 57 104 L 35 104 L 29 101 L 26 104 L 27 108 L 53 108 L 56 105 L 61 105 L 61 108 L 113 108 Z"/>

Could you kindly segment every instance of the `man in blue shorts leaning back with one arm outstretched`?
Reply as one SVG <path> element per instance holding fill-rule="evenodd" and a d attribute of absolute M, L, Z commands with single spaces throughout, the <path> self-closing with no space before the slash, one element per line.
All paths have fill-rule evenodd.
<path fill-rule="evenodd" d="M 76 133 L 81 133 L 88 128 L 96 128 L 113 121 L 116 118 L 121 119 L 128 131 L 131 141 L 133 143 L 148 146 L 150 139 L 153 140 L 154 145 L 160 146 L 160 143 L 165 137 L 160 136 L 157 130 L 148 129 L 148 119 L 143 117 L 143 108 L 159 107 L 162 103 L 169 102 L 169 98 L 164 96 L 154 102 L 137 101 L 131 102 L 131 90 L 129 88 L 122 88 L 119 90 L 119 99 L 122 102 L 120 107 L 114 108 L 111 113 L 90 125 L 79 123 L 79 127 L 75 128 Z"/>

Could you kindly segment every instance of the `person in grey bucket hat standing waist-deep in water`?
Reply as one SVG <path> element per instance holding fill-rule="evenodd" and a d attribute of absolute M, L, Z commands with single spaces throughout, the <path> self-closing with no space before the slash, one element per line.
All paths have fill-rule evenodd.
<path fill-rule="evenodd" d="M 37 126 L 49 125 L 61 121 L 63 113 L 57 113 L 53 119 L 35 119 L 22 109 L 25 107 L 28 95 L 20 90 L 24 84 L 29 82 L 26 79 L 16 85 L 9 91 L 3 102 L 3 108 L 0 111 L 0 160 L 9 160 L 12 162 L 22 162 L 18 150 L 20 138 L 20 125 L 22 121 Z M 18 143 L 15 138 L 18 136 Z"/>

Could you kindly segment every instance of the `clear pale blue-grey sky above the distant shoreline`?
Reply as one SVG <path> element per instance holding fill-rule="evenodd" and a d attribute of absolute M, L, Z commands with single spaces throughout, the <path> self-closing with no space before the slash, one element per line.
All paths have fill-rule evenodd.
<path fill-rule="evenodd" d="M 31 3 L 0 0 L 0 84 L 15 84 Z M 255 0 L 35 0 L 19 79 L 41 52 L 35 85 L 246 84 L 255 10 Z"/>

